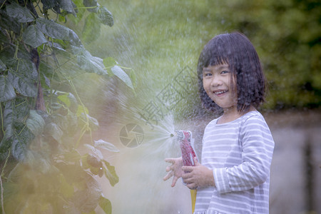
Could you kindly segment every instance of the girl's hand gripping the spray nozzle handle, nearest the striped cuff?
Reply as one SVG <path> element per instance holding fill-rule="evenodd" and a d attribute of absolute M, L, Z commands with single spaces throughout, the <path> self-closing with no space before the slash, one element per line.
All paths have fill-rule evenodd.
<path fill-rule="evenodd" d="M 182 167 L 182 170 L 185 172 L 183 173 L 182 178 L 187 187 L 195 189 L 210 185 L 215 186 L 213 170 L 210 170 L 204 165 L 200 165 L 197 158 L 194 158 L 194 162 L 195 166 Z"/>

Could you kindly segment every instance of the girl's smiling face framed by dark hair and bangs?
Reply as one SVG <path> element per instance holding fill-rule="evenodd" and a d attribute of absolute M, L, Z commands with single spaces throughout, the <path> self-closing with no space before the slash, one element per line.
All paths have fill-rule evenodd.
<path fill-rule="evenodd" d="M 233 75 L 227 63 L 203 68 L 203 88 L 210 99 L 224 111 L 237 109 L 236 81 L 233 78 L 232 88 L 230 78 Z"/>

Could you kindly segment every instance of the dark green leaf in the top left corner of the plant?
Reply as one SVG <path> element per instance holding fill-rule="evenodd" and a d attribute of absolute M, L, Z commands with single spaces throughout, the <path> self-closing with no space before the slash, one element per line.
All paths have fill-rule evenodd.
<path fill-rule="evenodd" d="M 11 4 L 6 6 L 6 13 L 8 16 L 16 19 L 16 21 L 21 23 L 34 21 L 34 16 L 32 16 L 29 9 L 23 6 L 19 6 L 14 1 L 11 1 Z"/>

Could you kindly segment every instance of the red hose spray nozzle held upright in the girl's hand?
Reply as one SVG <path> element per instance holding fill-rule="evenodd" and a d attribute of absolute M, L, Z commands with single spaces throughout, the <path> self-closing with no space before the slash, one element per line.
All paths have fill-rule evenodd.
<path fill-rule="evenodd" d="M 193 142 L 192 132 L 178 130 L 175 133 L 171 133 L 170 137 L 174 137 L 175 141 L 180 143 L 183 165 L 195 165 L 194 158 L 196 154 L 191 143 L 191 141 Z"/>

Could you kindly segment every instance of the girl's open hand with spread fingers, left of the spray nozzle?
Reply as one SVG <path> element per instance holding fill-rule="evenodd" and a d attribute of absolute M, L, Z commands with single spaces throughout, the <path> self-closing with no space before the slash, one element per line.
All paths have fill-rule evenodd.
<path fill-rule="evenodd" d="M 166 172 L 168 172 L 168 174 L 163 178 L 163 180 L 168 180 L 169 178 L 174 176 L 173 181 L 172 181 L 172 187 L 174 187 L 178 178 L 182 177 L 182 175 L 184 173 L 182 170 L 183 159 L 182 158 L 166 158 L 165 162 L 171 163 L 172 165 L 166 167 Z"/>

